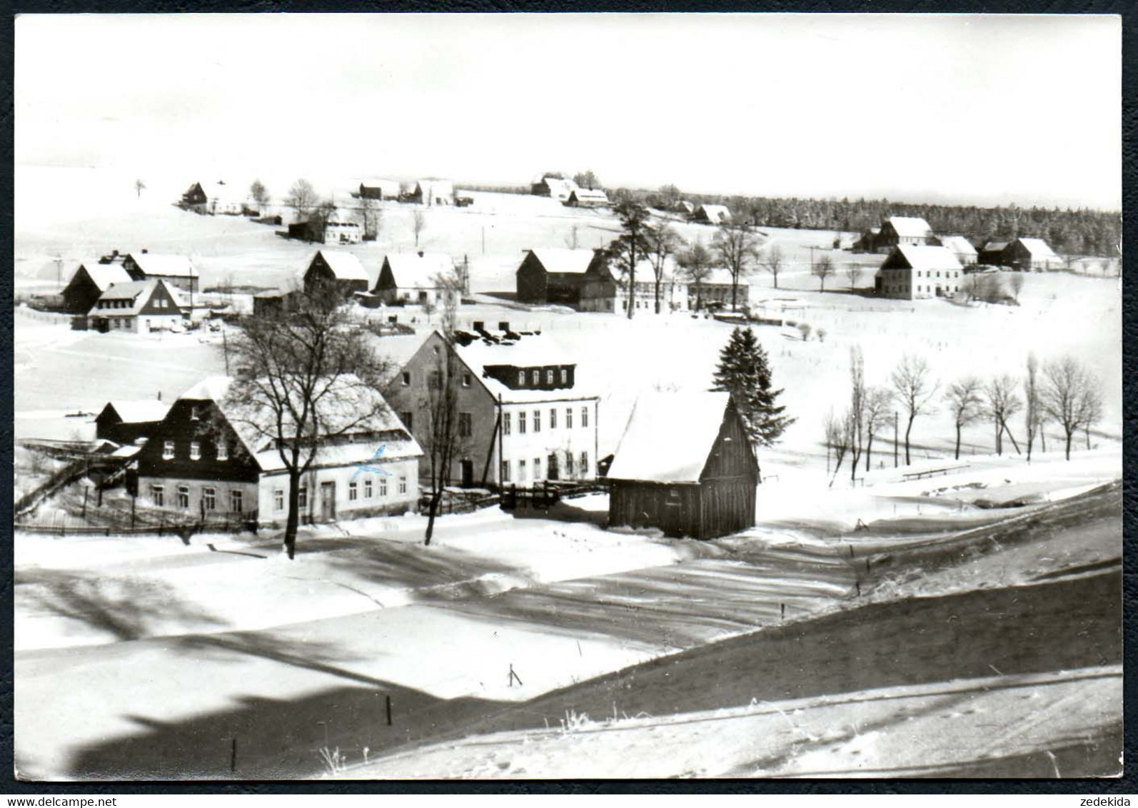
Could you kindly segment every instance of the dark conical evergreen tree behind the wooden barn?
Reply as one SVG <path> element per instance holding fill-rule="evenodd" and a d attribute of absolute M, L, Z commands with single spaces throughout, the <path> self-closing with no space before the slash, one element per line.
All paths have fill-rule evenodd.
<path fill-rule="evenodd" d="M 712 390 L 731 393 L 739 414 L 743 417 L 751 440 L 759 446 L 772 446 L 783 430 L 797 419 L 783 414 L 786 409 L 776 406 L 782 390 L 770 389 L 770 365 L 750 328 L 736 328 L 719 352 L 719 366 L 715 372 Z"/>

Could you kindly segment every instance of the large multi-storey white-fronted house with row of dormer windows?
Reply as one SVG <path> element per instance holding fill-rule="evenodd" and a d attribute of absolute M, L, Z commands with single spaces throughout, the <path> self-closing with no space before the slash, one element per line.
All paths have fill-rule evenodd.
<path fill-rule="evenodd" d="M 460 451 L 451 478 L 464 487 L 596 476 L 596 395 L 550 337 L 438 331 L 403 365 L 385 395 L 430 454 L 430 390 L 453 385 Z M 450 381 L 447 381 L 450 380 Z M 429 473 L 429 460 L 421 465 Z"/>

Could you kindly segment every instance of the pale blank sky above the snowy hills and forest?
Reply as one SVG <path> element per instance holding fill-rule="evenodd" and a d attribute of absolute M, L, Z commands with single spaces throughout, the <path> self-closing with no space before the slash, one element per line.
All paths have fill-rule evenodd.
<path fill-rule="evenodd" d="M 1120 209 L 1121 65 L 1112 16 L 31 15 L 16 164 Z"/>

